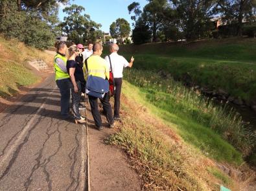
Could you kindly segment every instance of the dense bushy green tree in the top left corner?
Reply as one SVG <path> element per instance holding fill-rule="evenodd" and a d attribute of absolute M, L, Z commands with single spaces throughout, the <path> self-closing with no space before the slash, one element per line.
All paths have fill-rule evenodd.
<path fill-rule="evenodd" d="M 37 10 L 25 5 L 19 10 L 15 1 L 3 0 L 1 3 L 5 14 L 0 23 L 0 32 L 6 37 L 18 38 L 38 49 L 46 49 L 54 44 L 57 4 L 52 5 L 51 10 Z"/>

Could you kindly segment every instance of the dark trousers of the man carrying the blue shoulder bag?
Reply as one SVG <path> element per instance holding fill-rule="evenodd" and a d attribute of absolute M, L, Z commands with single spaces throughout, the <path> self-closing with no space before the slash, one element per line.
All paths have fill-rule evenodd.
<path fill-rule="evenodd" d="M 102 121 L 98 109 L 98 98 L 94 96 L 88 96 L 89 97 L 89 103 L 91 106 L 91 114 L 93 115 L 93 119 L 95 122 L 95 125 L 99 128 L 102 126 Z M 112 115 L 112 109 L 110 105 L 110 93 L 106 93 L 103 98 L 100 98 L 100 102 L 103 105 L 103 109 L 106 112 L 106 117 L 109 124 L 113 124 L 113 115 Z"/>

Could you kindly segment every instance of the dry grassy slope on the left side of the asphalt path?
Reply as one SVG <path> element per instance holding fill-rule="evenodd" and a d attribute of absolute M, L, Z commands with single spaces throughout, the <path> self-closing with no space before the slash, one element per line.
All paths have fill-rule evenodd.
<path fill-rule="evenodd" d="M 0 36 L 0 96 L 12 96 L 19 91 L 19 86 L 38 82 L 35 76 L 26 68 L 27 61 L 40 58 L 51 65 L 52 56 L 27 47 L 16 39 L 6 40 Z"/>

